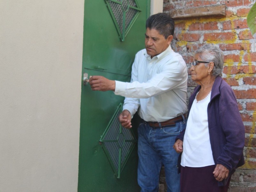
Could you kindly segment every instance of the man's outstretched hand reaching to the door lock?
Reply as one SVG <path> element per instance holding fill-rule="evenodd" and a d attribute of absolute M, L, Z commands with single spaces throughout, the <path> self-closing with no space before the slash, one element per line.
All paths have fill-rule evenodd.
<path fill-rule="evenodd" d="M 103 76 L 91 76 L 89 79 L 92 91 L 115 91 L 116 82 Z"/>

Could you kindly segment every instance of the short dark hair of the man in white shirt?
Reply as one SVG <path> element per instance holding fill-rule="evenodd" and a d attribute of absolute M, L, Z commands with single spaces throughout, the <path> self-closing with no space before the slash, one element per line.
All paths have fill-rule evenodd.
<path fill-rule="evenodd" d="M 156 29 L 165 39 L 174 34 L 174 20 L 166 13 L 151 15 L 146 21 L 146 29 Z"/>

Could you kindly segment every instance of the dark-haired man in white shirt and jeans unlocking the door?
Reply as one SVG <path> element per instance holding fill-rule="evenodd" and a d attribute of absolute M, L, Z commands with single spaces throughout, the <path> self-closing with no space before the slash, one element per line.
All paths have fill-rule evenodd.
<path fill-rule="evenodd" d="M 180 191 L 177 173 L 178 155 L 172 148 L 175 137 L 185 128 L 187 104 L 187 66 L 170 43 L 174 21 L 158 13 L 146 22 L 145 47 L 132 65 L 131 83 L 112 81 L 102 76 L 89 79 L 92 90 L 112 90 L 125 97 L 119 121 L 131 128 L 132 116 L 138 111 L 138 183 L 141 192 L 158 192 L 162 165 L 167 191 Z"/>

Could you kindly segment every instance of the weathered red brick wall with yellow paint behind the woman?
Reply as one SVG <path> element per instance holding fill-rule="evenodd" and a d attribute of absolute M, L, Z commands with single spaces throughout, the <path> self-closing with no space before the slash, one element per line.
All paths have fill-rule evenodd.
<path fill-rule="evenodd" d="M 253 0 L 164 0 L 163 11 L 226 5 L 226 16 L 175 20 L 172 48 L 187 63 L 202 44 L 215 44 L 224 52 L 223 78 L 232 86 L 245 125 L 245 165 L 232 176 L 230 191 L 256 191 L 256 39 L 246 17 Z M 188 65 L 189 68 L 189 65 Z M 188 80 L 188 96 L 196 84 Z"/>

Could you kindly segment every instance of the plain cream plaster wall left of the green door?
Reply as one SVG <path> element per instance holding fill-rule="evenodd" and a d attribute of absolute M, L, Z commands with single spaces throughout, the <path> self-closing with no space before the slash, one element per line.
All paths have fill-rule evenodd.
<path fill-rule="evenodd" d="M 77 191 L 84 1 L 0 0 L 0 192 Z"/>

